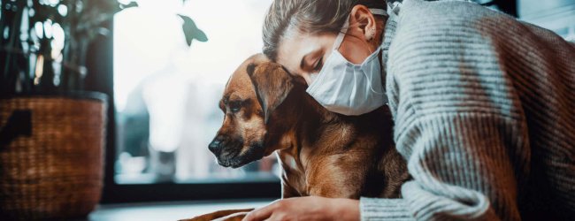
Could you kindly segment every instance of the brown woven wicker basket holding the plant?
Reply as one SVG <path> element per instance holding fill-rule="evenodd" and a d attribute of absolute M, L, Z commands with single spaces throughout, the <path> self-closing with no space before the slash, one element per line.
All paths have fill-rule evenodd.
<path fill-rule="evenodd" d="M 86 217 L 103 186 L 106 96 L 0 98 L 0 219 Z"/>

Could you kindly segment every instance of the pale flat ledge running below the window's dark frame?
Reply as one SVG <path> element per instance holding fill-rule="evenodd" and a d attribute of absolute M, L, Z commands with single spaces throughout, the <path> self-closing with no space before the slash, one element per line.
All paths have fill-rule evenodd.
<path fill-rule="evenodd" d="M 273 199 L 228 200 L 202 202 L 153 202 L 106 204 L 99 206 L 88 216 L 90 221 L 157 221 L 179 220 L 196 217 L 217 210 L 249 209 L 265 206 Z"/>

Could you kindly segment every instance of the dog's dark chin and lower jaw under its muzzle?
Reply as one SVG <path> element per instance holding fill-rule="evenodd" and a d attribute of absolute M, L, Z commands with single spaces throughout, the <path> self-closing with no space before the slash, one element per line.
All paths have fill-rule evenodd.
<path fill-rule="evenodd" d="M 264 158 L 264 152 L 264 148 L 261 145 L 254 145 L 243 153 L 222 153 L 218 157 L 218 164 L 224 167 L 239 168 Z"/>

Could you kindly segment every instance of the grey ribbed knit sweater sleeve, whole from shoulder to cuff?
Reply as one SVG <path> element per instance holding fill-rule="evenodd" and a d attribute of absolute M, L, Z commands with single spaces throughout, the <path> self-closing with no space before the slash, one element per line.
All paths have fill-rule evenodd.
<path fill-rule="evenodd" d="M 497 40 L 479 31 L 490 27 L 449 16 L 402 22 L 389 50 L 387 95 L 413 180 L 401 200 L 362 198 L 362 220 L 520 219 L 525 116 Z"/>

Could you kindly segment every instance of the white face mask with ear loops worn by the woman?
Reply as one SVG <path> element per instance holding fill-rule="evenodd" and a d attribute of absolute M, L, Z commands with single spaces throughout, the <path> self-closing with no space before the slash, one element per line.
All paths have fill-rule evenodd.
<path fill-rule="evenodd" d="M 373 14 L 387 15 L 383 10 Z M 332 54 L 318 74 L 311 74 L 306 92 L 327 110 L 343 115 L 362 115 L 376 110 L 387 98 L 381 84 L 381 47 L 367 57 L 361 65 L 349 62 L 338 49 L 348 31 L 349 19 L 334 42 Z"/>

